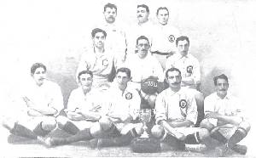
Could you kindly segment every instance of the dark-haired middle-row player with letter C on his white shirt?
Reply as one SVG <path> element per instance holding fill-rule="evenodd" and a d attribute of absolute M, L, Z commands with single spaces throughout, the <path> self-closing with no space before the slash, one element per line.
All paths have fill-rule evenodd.
<path fill-rule="evenodd" d="M 94 76 L 93 88 L 106 90 L 109 87 L 111 75 L 115 69 L 116 59 L 104 47 L 107 37 L 106 31 L 96 28 L 91 31 L 93 47 L 85 52 L 79 62 L 77 76 L 80 71 L 92 71 Z"/>

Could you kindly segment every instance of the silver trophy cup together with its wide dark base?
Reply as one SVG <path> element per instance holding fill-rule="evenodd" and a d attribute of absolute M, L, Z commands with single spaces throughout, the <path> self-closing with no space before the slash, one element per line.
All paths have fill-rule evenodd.
<path fill-rule="evenodd" d="M 160 140 L 150 138 L 148 134 L 147 123 L 151 121 L 152 110 L 139 110 L 139 120 L 143 122 L 143 134 L 141 137 L 134 138 L 131 141 L 131 150 L 137 153 L 153 153 L 160 151 Z"/>

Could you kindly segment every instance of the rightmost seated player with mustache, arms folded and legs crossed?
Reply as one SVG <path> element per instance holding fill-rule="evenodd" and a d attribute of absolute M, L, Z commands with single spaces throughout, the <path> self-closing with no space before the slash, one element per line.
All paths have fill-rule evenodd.
<path fill-rule="evenodd" d="M 215 76 L 213 81 L 216 92 L 205 99 L 206 116 L 201 121 L 201 127 L 211 133 L 211 138 L 223 144 L 217 148 L 219 155 L 224 155 L 229 149 L 245 155 L 247 147 L 237 143 L 247 136 L 250 124 L 241 113 L 242 108 L 238 99 L 228 92 L 228 77 L 222 74 Z"/>

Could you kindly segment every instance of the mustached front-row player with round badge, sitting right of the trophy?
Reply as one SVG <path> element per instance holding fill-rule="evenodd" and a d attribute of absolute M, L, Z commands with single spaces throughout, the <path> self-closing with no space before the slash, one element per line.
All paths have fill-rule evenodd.
<path fill-rule="evenodd" d="M 200 144 L 209 133 L 193 127 L 197 119 L 195 96 L 181 87 L 182 76 L 177 68 L 166 71 L 166 81 L 169 87 L 156 98 L 152 135 L 176 150 L 185 150 L 185 144 Z"/>

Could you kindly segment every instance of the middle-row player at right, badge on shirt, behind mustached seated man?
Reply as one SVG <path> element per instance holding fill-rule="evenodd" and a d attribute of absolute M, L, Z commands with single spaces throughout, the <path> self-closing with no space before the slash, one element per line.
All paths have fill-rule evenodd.
<path fill-rule="evenodd" d="M 195 101 L 198 110 L 198 119 L 196 126 L 199 126 L 204 117 L 204 96 L 200 90 L 200 65 L 192 54 L 189 54 L 189 37 L 177 37 L 177 54 L 173 54 L 166 60 L 166 70 L 176 67 L 181 71 L 182 87 L 189 87 L 191 93 L 195 94 Z"/>

